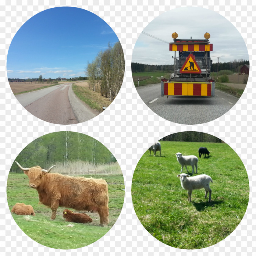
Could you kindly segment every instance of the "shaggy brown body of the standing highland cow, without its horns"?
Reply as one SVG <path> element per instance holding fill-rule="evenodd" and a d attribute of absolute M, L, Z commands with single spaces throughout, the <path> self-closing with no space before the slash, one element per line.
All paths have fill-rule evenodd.
<path fill-rule="evenodd" d="M 100 224 L 108 224 L 108 184 L 102 179 L 46 173 L 40 166 L 25 170 L 29 186 L 37 190 L 39 201 L 52 209 L 55 219 L 59 206 L 78 211 L 98 212 Z"/>

